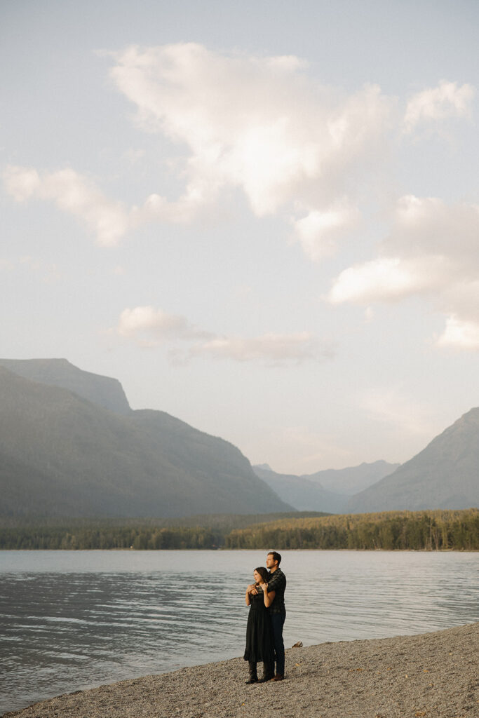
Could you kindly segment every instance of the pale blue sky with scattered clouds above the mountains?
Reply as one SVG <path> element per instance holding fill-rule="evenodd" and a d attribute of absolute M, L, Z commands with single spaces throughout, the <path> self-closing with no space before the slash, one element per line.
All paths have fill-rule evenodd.
<path fill-rule="evenodd" d="M 0 0 L 0 355 L 308 474 L 479 406 L 475 0 Z"/>

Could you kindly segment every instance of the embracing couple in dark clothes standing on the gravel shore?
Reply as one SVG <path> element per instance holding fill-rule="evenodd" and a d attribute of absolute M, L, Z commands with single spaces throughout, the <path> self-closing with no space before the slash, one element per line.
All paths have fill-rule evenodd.
<path fill-rule="evenodd" d="M 249 606 L 246 627 L 244 660 L 248 661 L 249 683 L 282 681 L 284 679 L 283 625 L 286 618 L 284 589 L 286 576 L 279 568 L 281 556 L 270 551 L 266 567 L 254 569 L 254 584 L 246 589 L 246 605 Z M 276 673 L 274 661 L 276 660 Z M 256 663 L 263 662 L 263 678 L 258 680 Z"/>

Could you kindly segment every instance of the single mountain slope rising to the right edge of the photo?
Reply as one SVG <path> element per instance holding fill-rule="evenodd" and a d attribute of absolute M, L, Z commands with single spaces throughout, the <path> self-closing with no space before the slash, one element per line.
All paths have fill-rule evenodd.
<path fill-rule="evenodd" d="M 479 409 L 445 429 L 391 475 L 353 496 L 352 513 L 479 505 Z"/>

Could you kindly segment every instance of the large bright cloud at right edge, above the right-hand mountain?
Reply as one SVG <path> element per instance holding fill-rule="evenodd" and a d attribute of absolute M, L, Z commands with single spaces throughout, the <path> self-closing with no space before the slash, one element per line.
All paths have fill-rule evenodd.
<path fill-rule="evenodd" d="M 478 205 L 402 197 L 379 256 L 342 271 L 327 299 L 368 305 L 429 297 L 447 317 L 437 344 L 479 348 L 478 237 Z"/>

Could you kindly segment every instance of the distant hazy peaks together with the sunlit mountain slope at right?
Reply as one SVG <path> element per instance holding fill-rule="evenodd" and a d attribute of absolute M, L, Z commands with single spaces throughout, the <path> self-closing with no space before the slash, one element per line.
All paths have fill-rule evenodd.
<path fill-rule="evenodd" d="M 470 409 L 402 465 L 384 461 L 312 475 L 256 474 L 298 510 L 374 513 L 479 505 L 479 409 Z M 334 490 L 331 490 L 334 489 Z"/>

